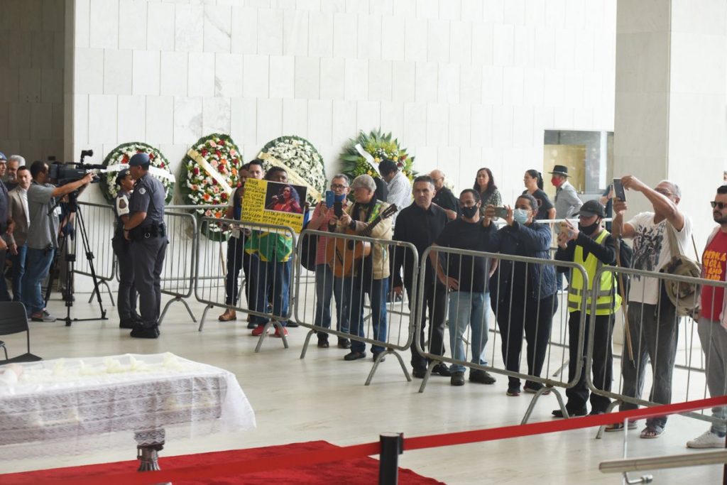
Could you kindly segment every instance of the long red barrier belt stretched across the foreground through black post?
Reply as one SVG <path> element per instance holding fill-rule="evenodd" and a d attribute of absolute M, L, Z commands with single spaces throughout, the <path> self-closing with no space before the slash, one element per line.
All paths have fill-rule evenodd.
<path fill-rule="evenodd" d="M 403 448 L 405 450 L 433 448 L 436 446 L 452 446 L 457 444 L 478 443 L 481 441 L 493 441 L 506 438 L 517 438 L 520 436 L 531 436 L 543 433 L 555 433 L 556 431 L 575 430 L 579 428 L 591 428 L 593 426 L 609 425 L 614 422 L 644 419 L 664 414 L 678 414 L 682 412 L 695 411 L 713 406 L 727 404 L 727 396 L 717 398 L 699 399 L 677 404 L 664 404 L 643 409 L 631 409 L 629 411 L 615 412 L 610 414 L 598 414 L 595 416 L 579 417 L 571 420 L 553 420 L 547 422 L 533 422 L 526 425 L 504 426 L 502 428 L 491 428 L 486 430 L 463 431 L 461 433 L 447 433 L 440 435 L 418 436 L 416 438 L 405 438 Z M 257 460 L 245 460 L 238 462 L 226 462 L 221 465 L 190 465 L 188 467 L 174 468 L 172 470 L 159 470 L 153 472 L 125 472 L 116 473 L 103 477 L 104 485 L 142 485 L 158 484 L 166 481 L 188 481 L 200 478 L 214 478 L 217 476 L 241 475 L 244 473 L 255 473 L 281 468 L 296 468 L 301 466 L 316 465 L 318 463 L 350 460 L 353 458 L 367 457 L 379 454 L 379 442 L 343 446 L 339 449 L 326 449 L 324 451 L 305 452 L 297 454 L 278 455 L 270 458 Z M 74 484 L 74 485 L 95 485 L 98 477 L 93 478 L 65 478 L 48 480 L 52 484 Z M 2 475 L 0 475 L 0 482 Z"/>

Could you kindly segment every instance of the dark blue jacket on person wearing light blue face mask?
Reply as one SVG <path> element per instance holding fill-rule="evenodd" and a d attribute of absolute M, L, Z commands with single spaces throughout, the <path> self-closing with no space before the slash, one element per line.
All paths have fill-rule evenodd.
<path fill-rule="evenodd" d="M 522 225 L 515 222 L 512 226 L 506 225 L 500 228 L 491 237 L 493 251 L 550 260 L 550 241 L 553 236 L 550 233 L 550 227 L 545 224 Z M 514 271 L 513 264 L 515 265 Z M 524 263 L 499 260 L 497 271 L 490 279 L 492 301 L 497 301 L 498 293 L 501 300 L 508 299 L 513 274 L 524 270 Z M 529 276 L 528 297 L 531 300 L 542 300 L 555 293 L 555 267 L 553 265 L 528 265 L 527 272 Z"/>

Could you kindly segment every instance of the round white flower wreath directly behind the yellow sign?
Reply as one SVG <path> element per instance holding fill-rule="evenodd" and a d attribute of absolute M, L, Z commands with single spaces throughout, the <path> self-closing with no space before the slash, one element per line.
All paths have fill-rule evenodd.
<path fill-rule="evenodd" d="M 262 147 L 257 158 L 262 159 L 265 170 L 278 165 L 287 172 L 294 171 L 298 178 L 305 180 L 305 184 L 309 188 L 306 200 L 311 205 L 317 204 L 318 196 L 326 190 L 326 169 L 323 157 L 321 157 L 321 153 L 318 153 L 316 147 L 305 138 L 296 136 L 276 138 Z M 297 177 L 288 174 L 289 183 L 297 184 L 294 178 Z M 310 190 L 311 188 L 313 191 Z"/>

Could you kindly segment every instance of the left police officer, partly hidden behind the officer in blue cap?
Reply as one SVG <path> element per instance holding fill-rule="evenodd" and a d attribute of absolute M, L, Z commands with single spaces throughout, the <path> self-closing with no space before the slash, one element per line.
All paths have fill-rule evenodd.
<path fill-rule="evenodd" d="M 119 187 L 114 206 L 116 231 L 111 239 L 113 253 L 119 260 L 119 296 L 116 308 L 119 310 L 119 328 L 133 329 L 134 321 L 140 321 L 141 317 L 136 312 L 137 291 L 134 286 L 131 243 L 124 238 L 124 224 L 129 222 L 129 199 L 134 188 L 134 179 L 129 169 L 119 172 L 116 176 L 116 185 Z"/>

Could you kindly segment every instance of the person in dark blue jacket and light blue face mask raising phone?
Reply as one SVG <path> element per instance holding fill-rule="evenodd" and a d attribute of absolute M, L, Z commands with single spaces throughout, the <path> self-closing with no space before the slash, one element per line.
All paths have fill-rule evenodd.
<path fill-rule="evenodd" d="M 534 223 L 538 203 L 534 196 L 524 193 L 507 207 L 505 225 L 492 236 L 498 252 L 515 256 L 550 260 L 551 233 L 547 225 Z M 494 217 L 494 207 L 486 209 L 486 217 Z M 547 353 L 550 326 L 558 309 L 555 295 L 553 265 L 499 260 L 497 271 L 490 280 L 490 305 L 502 334 L 502 358 L 505 368 L 520 372 L 523 333 L 527 342 L 527 374 L 540 376 Z M 525 372 L 523 372 L 524 374 Z M 542 384 L 526 381 L 526 392 L 535 393 Z M 507 396 L 519 396 L 521 383 L 509 377 Z"/>

